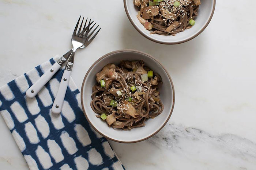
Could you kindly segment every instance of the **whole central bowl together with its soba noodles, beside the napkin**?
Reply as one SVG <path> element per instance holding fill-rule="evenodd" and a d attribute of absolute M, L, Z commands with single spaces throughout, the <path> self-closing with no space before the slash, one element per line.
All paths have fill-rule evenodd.
<path fill-rule="evenodd" d="M 87 71 L 81 103 L 87 121 L 110 140 L 134 143 L 158 133 L 174 108 L 170 75 L 153 56 L 118 50 Z"/>

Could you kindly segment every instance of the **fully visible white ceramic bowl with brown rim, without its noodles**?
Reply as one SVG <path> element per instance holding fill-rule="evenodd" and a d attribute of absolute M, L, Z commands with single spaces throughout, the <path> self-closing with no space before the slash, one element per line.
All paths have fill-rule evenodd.
<path fill-rule="evenodd" d="M 163 112 L 154 119 L 146 120 L 146 126 L 135 128 L 129 131 L 113 129 L 97 118 L 91 109 L 92 87 L 96 84 L 95 74 L 102 70 L 108 63 L 119 64 L 121 60 L 143 60 L 146 66 L 157 72 L 162 77 L 160 98 L 164 105 Z M 143 141 L 158 133 L 169 120 L 174 107 L 174 87 L 170 75 L 165 68 L 152 56 L 136 50 L 113 51 L 98 59 L 87 71 L 81 90 L 81 102 L 84 115 L 91 126 L 102 136 L 122 143 L 134 143 Z"/>

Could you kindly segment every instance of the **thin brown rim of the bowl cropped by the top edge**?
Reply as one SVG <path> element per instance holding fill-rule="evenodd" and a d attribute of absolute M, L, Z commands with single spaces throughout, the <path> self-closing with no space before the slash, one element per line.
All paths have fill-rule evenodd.
<path fill-rule="evenodd" d="M 124 9 L 125 9 L 125 13 L 126 13 L 128 19 L 130 20 L 130 22 L 132 23 L 133 27 L 134 27 L 141 35 L 143 35 L 143 36 L 146 37 L 147 39 L 149 39 L 149 40 L 151 40 L 151 41 L 154 41 L 154 42 L 156 42 L 156 43 L 160 43 L 160 44 L 181 44 L 181 43 L 185 43 L 185 42 L 187 42 L 187 41 L 189 41 L 189 40 L 192 40 L 193 38 L 197 37 L 200 33 L 202 33 L 202 32 L 204 31 L 204 29 L 205 29 L 205 28 L 208 26 L 208 24 L 210 23 L 210 21 L 211 21 L 211 19 L 212 19 L 212 16 L 213 16 L 213 14 L 214 14 L 214 11 L 215 11 L 215 5 L 216 5 L 216 0 L 214 0 L 214 4 L 213 4 L 213 8 L 212 8 L 212 11 L 211 11 L 211 16 L 210 16 L 210 18 L 208 19 L 207 23 L 204 25 L 204 27 L 203 27 L 199 32 L 197 32 L 195 35 L 193 35 L 192 37 L 187 38 L 187 39 L 185 39 L 185 40 L 168 43 L 168 42 L 159 41 L 159 40 L 156 40 L 156 39 L 154 39 L 154 38 L 152 38 L 152 37 L 147 37 L 146 35 L 144 35 L 143 32 L 142 32 L 138 27 L 136 27 L 135 23 L 133 22 L 133 20 L 132 20 L 132 18 L 131 18 L 131 16 L 129 15 L 128 10 L 127 10 L 126 0 L 124 0 Z"/>

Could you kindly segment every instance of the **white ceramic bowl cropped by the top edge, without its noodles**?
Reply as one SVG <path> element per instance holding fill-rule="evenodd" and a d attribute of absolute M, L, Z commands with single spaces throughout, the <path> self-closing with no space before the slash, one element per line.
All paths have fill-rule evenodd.
<path fill-rule="evenodd" d="M 161 44 L 180 44 L 195 38 L 204 31 L 213 16 L 215 3 L 216 0 L 201 0 L 201 5 L 198 9 L 199 14 L 195 19 L 196 24 L 184 32 L 177 33 L 176 36 L 158 34 L 150 35 L 150 31 L 145 29 L 136 17 L 138 14 L 138 8 L 133 4 L 133 0 L 124 0 L 124 8 L 133 27 L 135 27 L 137 31 L 147 39 Z"/>

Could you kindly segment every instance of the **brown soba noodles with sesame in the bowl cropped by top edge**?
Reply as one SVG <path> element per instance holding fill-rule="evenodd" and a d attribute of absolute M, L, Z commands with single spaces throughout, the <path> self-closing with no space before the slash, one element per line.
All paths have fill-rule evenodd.
<path fill-rule="evenodd" d="M 157 1 L 157 2 L 155 2 Z M 140 23 L 150 34 L 173 35 L 191 28 L 200 0 L 134 0 Z"/>

